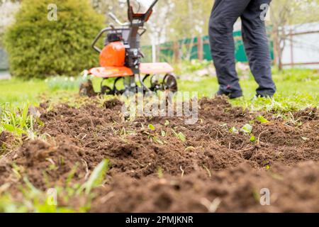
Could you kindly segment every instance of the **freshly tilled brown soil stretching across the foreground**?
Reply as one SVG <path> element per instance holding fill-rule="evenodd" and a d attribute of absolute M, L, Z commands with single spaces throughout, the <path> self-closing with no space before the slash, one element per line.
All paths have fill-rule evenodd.
<path fill-rule="evenodd" d="M 106 183 L 95 189 L 90 211 L 319 211 L 318 109 L 285 120 L 204 98 L 198 123 L 187 125 L 184 118 L 125 119 L 121 106 L 117 99 L 53 110 L 42 104 L 41 136 L 24 139 L 1 159 L 0 185 L 9 182 L 14 192 L 13 163 L 46 190 L 64 185 L 76 164 L 72 182 L 84 182 L 107 158 Z M 269 122 L 257 121 L 260 115 Z M 247 123 L 254 142 L 252 135 L 230 132 Z M 0 144 L 7 137 L 1 135 Z M 262 189 L 270 191 L 270 206 L 260 204 Z"/>

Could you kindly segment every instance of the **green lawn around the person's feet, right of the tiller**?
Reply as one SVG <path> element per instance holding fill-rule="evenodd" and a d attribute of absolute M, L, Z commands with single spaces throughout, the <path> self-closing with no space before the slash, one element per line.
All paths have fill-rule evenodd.
<path fill-rule="evenodd" d="M 284 70 L 273 72 L 277 93 L 274 99 L 252 100 L 256 94 L 257 83 L 250 75 L 248 79 L 241 79 L 244 97 L 231 100 L 236 106 L 267 111 L 296 111 L 308 106 L 319 106 L 319 72 L 316 70 Z M 183 91 L 198 91 L 200 96 L 213 96 L 218 90 L 216 77 L 203 79 L 200 82 L 181 81 L 179 89 Z"/>

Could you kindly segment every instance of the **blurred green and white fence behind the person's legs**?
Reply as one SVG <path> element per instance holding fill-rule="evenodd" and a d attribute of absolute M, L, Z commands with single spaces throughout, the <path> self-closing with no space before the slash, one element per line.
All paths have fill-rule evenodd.
<path fill-rule="evenodd" d="M 239 26 L 240 27 L 240 26 Z M 281 62 L 284 67 L 307 67 L 319 69 L 319 23 L 307 23 L 297 26 L 286 26 L 285 33 L 289 33 L 285 40 Z M 271 28 L 268 31 L 272 33 Z M 247 62 L 241 31 L 233 33 L 235 40 L 235 57 L 237 62 Z M 278 64 L 279 59 L 274 48 L 274 42 L 269 35 L 269 46 L 272 60 Z M 147 53 L 145 61 L 152 61 L 152 47 L 142 48 Z M 156 47 L 157 61 L 180 60 L 211 60 L 208 35 L 179 40 L 177 42 L 162 43 Z"/>

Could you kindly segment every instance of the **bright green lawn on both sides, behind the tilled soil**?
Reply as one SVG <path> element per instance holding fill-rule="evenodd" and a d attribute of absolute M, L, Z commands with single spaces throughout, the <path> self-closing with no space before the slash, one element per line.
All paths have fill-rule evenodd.
<path fill-rule="evenodd" d="M 196 75 L 194 74 L 194 77 Z M 293 111 L 308 106 L 319 106 L 319 72 L 318 70 L 274 70 L 274 80 L 278 92 L 274 99 L 252 100 L 257 88 L 252 76 L 241 79 L 244 98 L 232 100 L 232 104 L 250 109 L 266 109 L 273 111 Z M 0 104 L 9 102 L 13 106 L 22 106 L 27 101 L 38 104 L 41 100 L 59 96 L 77 94 L 79 79 L 64 77 L 49 81 L 21 79 L 0 81 Z M 216 77 L 204 77 L 199 82 L 179 80 L 179 90 L 198 92 L 199 96 L 213 96 L 218 90 Z"/>

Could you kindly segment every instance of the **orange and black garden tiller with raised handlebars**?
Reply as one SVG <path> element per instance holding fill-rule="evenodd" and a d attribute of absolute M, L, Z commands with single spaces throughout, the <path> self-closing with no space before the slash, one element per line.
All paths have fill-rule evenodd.
<path fill-rule="evenodd" d="M 120 26 L 111 25 L 104 28 L 94 39 L 92 47 L 100 55 L 101 67 L 89 70 L 93 77 L 102 78 L 101 92 L 94 92 L 91 80 L 81 84 L 80 94 L 124 94 L 125 92 L 177 92 L 177 79 L 172 72 L 172 66 L 166 62 L 142 63 L 144 57 L 140 50 L 140 37 L 146 32 L 144 27 L 152 14 L 152 9 L 158 0 L 127 0 L 128 23 L 121 23 L 113 13 L 108 13 Z M 102 35 L 106 33 L 103 50 L 96 46 Z M 105 84 L 106 79 L 113 79 L 113 87 Z M 150 87 L 145 85 L 150 79 Z M 123 80 L 123 89 L 116 84 Z M 139 83 L 136 81 L 138 80 Z M 159 82 L 161 80 L 161 82 Z M 140 85 L 138 85 L 140 84 Z"/>

